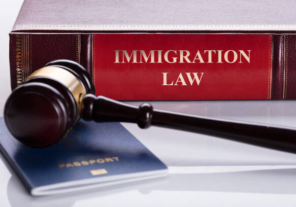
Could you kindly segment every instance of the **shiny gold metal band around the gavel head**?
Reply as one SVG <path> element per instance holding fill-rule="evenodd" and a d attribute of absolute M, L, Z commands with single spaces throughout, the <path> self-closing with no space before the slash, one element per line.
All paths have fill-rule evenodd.
<path fill-rule="evenodd" d="M 46 77 L 63 84 L 71 91 L 76 101 L 77 108 L 78 110 L 80 109 L 81 97 L 86 95 L 86 89 L 71 72 L 60 67 L 46 66 L 32 73 L 28 79 L 33 77 Z"/>

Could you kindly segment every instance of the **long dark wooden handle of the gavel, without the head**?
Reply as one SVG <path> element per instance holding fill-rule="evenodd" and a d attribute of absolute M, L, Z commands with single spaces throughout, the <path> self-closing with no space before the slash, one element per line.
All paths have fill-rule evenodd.
<path fill-rule="evenodd" d="M 141 128 L 150 125 L 218 136 L 265 148 L 296 153 L 296 130 L 261 124 L 154 110 L 148 103 L 127 105 L 104 96 L 87 94 L 82 100 L 81 117 L 96 122 L 133 122 Z"/>

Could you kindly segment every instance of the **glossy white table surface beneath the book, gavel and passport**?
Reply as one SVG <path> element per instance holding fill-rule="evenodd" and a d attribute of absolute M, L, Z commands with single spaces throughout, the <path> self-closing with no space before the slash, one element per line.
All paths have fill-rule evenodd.
<path fill-rule="evenodd" d="M 0 0 L 0 116 L 10 94 L 8 33 L 21 0 Z M 140 102 L 130 102 L 138 105 Z M 176 112 L 296 126 L 296 101 L 158 101 Z M 196 133 L 123 123 L 169 166 L 165 179 L 32 197 L 0 159 L 0 206 L 296 206 L 296 155 Z M 1 139 L 1 137 L 0 137 Z"/>

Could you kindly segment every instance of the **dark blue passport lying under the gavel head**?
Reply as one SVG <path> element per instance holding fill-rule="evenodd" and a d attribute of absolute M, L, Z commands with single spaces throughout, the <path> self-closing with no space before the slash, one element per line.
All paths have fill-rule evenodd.
<path fill-rule="evenodd" d="M 168 172 L 120 123 L 80 120 L 58 144 L 31 148 L 14 139 L 0 118 L 0 149 L 32 195 L 159 178 Z"/>

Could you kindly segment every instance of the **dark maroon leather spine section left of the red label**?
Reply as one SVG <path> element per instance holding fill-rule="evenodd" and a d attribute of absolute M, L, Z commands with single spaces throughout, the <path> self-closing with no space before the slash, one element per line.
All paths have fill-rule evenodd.
<path fill-rule="evenodd" d="M 84 58 L 84 57 L 83 57 Z M 81 62 L 80 34 L 10 33 L 11 88 L 55 59 Z"/>

